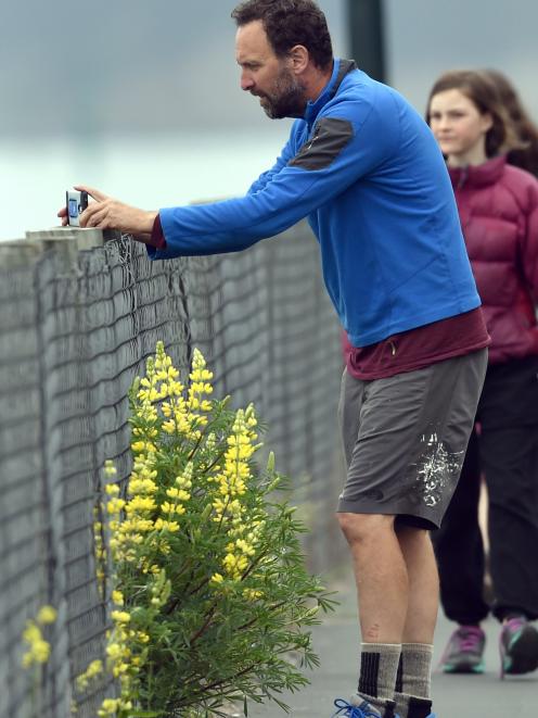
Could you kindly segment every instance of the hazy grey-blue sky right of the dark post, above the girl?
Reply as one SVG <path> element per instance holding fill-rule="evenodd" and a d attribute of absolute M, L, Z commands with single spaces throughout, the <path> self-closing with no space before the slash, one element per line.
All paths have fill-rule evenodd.
<path fill-rule="evenodd" d="M 495 67 L 514 81 L 538 121 L 537 0 L 384 3 L 389 81 L 421 113 L 444 71 Z"/>

